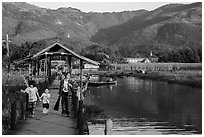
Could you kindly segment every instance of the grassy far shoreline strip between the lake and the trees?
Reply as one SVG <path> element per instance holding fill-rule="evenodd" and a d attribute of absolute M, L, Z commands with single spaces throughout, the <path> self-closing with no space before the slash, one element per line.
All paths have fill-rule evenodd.
<path fill-rule="evenodd" d="M 180 70 L 180 71 L 147 71 L 144 74 L 134 70 L 125 71 L 88 71 L 92 75 L 106 77 L 138 77 L 141 79 L 150 79 L 166 81 L 169 84 L 181 84 L 185 86 L 202 88 L 201 70 Z"/>

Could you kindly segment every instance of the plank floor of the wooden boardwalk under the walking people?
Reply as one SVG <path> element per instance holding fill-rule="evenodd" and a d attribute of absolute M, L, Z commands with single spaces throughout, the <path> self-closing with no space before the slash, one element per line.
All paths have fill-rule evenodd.
<path fill-rule="evenodd" d="M 7 135 L 76 135 L 78 134 L 77 120 L 61 115 L 61 105 L 59 111 L 54 111 L 53 107 L 58 98 L 57 87 L 59 81 L 54 80 L 50 86 L 50 109 L 48 115 L 42 114 L 42 102 L 37 103 L 35 117 L 27 118 L 18 122 L 15 129 L 9 130 Z"/>

